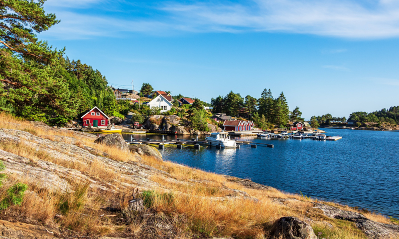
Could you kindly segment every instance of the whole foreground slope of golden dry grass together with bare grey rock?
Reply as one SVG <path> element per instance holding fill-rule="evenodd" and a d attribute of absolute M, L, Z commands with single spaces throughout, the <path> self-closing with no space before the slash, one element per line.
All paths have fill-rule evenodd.
<path fill-rule="evenodd" d="M 1 210 L 1 219 L 44 225 L 57 237 L 267 238 L 277 219 L 296 216 L 324 237 L 366 238 L 354 222 L 329 217 L 315 208 L 320 201 L 306 196 L 126 152 L 94 143 L 94 135 L 7 114 L 0 115 L 0 128 L 7 174 L 0 199 L 7 197 L 3 188 L 28 185 L 21 205 Z M 144 211 L 128 210 L 134 188 L 140 189 Z M 362 214 L 391 223 L 382 215 Z"/>

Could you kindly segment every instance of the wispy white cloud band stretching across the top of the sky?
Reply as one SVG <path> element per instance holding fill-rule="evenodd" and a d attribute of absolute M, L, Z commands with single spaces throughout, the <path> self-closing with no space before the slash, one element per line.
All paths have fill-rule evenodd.
<path fill-rule="evenodd" d="M 53 9 L 57 9 L 57 7 L 71 6 L 99 8 L 106 2 L 108 1 L 49 0 L 48 3 L 53 6 Z M 120 4 L 123 1 L 118 2 Z M 127 5 L 127 3 L 125 4 Z M 226 4 L 225 1 L 224 4 L 168 2 L 156 6 L 147 6 L 148 11 L 159 13 L 148 15 L 153 19 L 131 17 L 137 15 L 129 13 L 126 8 L 118 18 L 104 17 L 100 14 L 97 16 L 75 14 L 77 19 L 85 19 L 85 22 L 78 25 L 74 25 L 67 18 L 60 16 L 59 12 L 65 11 L 64 8 L 59 8 L 59 11 L 55 11 L 55 13 L 62 20 L 59 30 L 62 29 L 68 33 L 76 29 L 75 32 L 79 36 L 104 35 L 108 31 L 151 34 L 252 31 L 312 34 L 351 39 L 399 37 L 399 1 L 397 0 L 380 0 L 372 2 L 372 6 L 350 0 L 252 0 L 245 4 Z"/>

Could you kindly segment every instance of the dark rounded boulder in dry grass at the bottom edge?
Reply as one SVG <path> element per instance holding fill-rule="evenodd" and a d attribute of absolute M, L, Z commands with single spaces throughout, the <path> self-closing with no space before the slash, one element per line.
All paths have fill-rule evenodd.
<path fill-rule="evenodd" d="M 308 223 L 292 216 L 278 219 L 273 225 L 271 235 L 284 239 L 317 239 Z"/>

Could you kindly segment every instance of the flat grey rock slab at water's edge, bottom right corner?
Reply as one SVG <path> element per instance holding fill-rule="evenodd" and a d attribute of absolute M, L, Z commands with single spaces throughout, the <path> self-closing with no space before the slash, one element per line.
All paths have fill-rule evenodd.
<path fill-rule="evenodd" d="M 315 208 L 323 211 L 324 215 L 347 221 L 354 221 L 355 225 L 372 239 L 390 239 L 399 237 L 399 225 L 385 224 L 367 219 L 364 215 L 354 212 L 341 210 L 334 206 L 321 203 L 314 203 Z"/>

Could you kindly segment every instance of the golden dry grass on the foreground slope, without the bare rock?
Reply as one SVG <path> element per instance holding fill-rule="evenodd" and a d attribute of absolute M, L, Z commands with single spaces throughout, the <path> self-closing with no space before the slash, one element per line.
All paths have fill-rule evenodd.
<path fill-rule="evenodd" d="M 30 132 L 36 136 L 54 139 L 56 136 L 70 137 L 71 142 L 77 139 L 75 145 L 84 145 L 107 153 L 107 157 L 116 161 L 136 161 L 130 153 L 124 153 L 116 148 L 93 143 L 89 137 L 72 131 L 45 130 L 32 123 L 18 120 L 6 114 L 0 114 L 0 128 L 18 129 Z M 117 171 L 99 167 L 92 163 L 89 167 L 79 163 L 61 161 L 52 155 L 40 152 L 28 145 L 1 142 L 0 149 L 27 157 L 34 163 L 41 159 L 81 171 L 93 180 L 111 182 L 113 179 L 123 181 Z M 145 191 L 146 202 L 151 208 L 146 211 L 150 217 L 138 214 L 123 213 L 127 207 L 131 190 L 103 191 L 88 187 L 81 182 L 69 182 L 74 192 L 61 194 L 49 192 L 35 187 L 36 182 L 24 181 L 16 175 L 9 175 L 5 186 L 0 187 L 0 197 L 6 194 L 7 185 L 16 181 L 28 183 L 28 194 L 24 197 L 22 206 L 12 206 L 0 212 L 5 220 L 19 220 L 33 224 L 45 224 L 59 229 L 63 234 L 71 235 L 119 235 L 147 238 L 150 233 L 151 221 L 167 220 L 173 226 L 168 237 L 190 238 L 195 236 L 235 236 L 236 238 L 264 238 L 268 228 L 275 220 L 282 216 L 296 216 L 301 219 L 309 217 L 314 222 L 315 232 L 322 232 L 321 236 L 329 238 L 366 238 L 364 234 L 347 221 L 333 220 L 322 215 L 319 209 L 312 206 L 311 198 L 295 194 L 286 194 L 276 189 L 258 190 L 245 188 L 241 184 L 229 181 L 223 175 L 204 172 L 198 169 L 177 165 L 171 162 L 157 160 L 144 156 L 141 163 L 166 171 L 170 176 L 153 175 L 151 180 L 160 185 Z M 250 197 L 232 197 L 232 189 L 246 192 Z M 293 198 L 284 203 L 276 202 L 278 198 Z M 226 200 L 224 200 L 226 199 Z M 346 210 L 354 210 L 348 206 L 335 203 L 327 204 Z M 111 206 L 121 209 L 121 212 L 104 212 L 101 208 Z M 366 217 L 384 223 L 389 220 L 382 215 L 362 212 Z M 116 214 L 117 216 L 101 216 L 102 214 Z M 119 218 L 119 219 L 118 219 Z M 334 225 L 327 226 L 327 221 Z M 163 233 L 160 229 L 157 233 Z M 155 233 L 154 231 L 151 233 Z M 165 232 L 166 233 L 166 232 Z"/>

